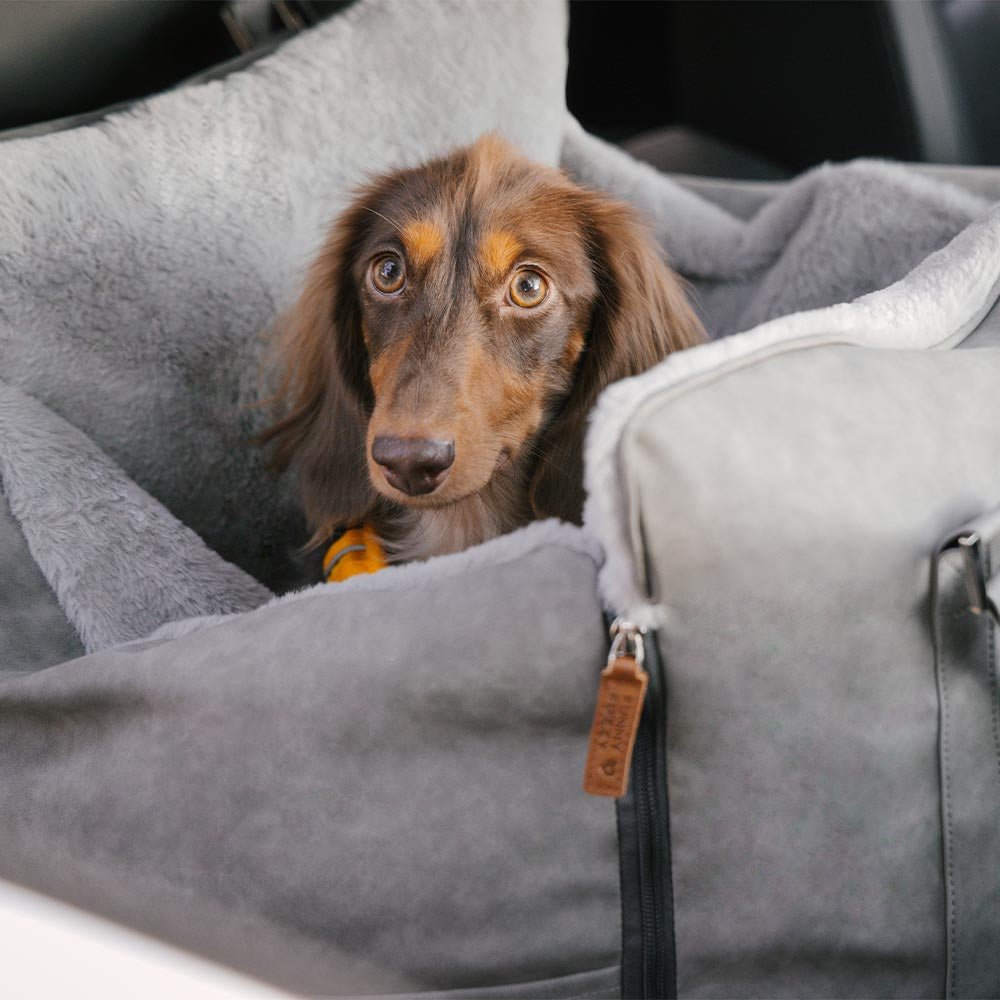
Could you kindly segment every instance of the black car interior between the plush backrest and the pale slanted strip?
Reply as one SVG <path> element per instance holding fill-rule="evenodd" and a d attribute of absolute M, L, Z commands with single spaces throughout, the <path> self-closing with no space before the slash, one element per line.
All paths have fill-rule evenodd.
<path fill-rule="evenodd" d="M 919 156 L 883 4 L 575 0 L 571 12 L 567 101 L 604 138 L 682 124 L 789 171 Z"/>

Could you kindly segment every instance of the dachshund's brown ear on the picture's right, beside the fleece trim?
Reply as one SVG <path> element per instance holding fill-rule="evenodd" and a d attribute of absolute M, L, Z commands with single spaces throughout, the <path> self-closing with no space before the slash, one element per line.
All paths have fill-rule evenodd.
<path fill-rule="evenodd" d="M 580 202 L 597 297 L 569 396 L 538 438 L 529 489 L 536 517 L 576 523 L 587 418 L 601 390 L 705 339 L 682 281 L 634 211 L 589 191 Z"/>

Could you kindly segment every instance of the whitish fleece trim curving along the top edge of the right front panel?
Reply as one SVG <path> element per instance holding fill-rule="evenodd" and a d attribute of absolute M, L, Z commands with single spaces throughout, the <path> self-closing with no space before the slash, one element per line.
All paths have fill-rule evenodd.
<path fill-rule="evenodd" d="M 668 608 L 650 603 L 640 582 L 619 464 L 623 436 L 644 403 L 688 387 L 695 379 L 721 377 L 755 356 L 803 346 L 849 343 L 910 351 L 949 347 L 978 325 L 998 297 L 1000 205 L 888 288 L 671 355 L 642 375 L 609 386 L 591 416 L 585 449 L 584 525 L 605 551 L 599 576 L 605 605 L 651 627 L 670 616 Z"/>

